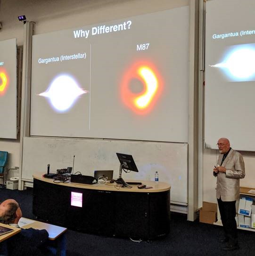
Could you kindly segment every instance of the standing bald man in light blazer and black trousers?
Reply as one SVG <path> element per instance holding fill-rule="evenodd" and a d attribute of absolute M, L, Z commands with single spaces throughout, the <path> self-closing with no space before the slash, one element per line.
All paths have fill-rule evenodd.
<path fill-rule="evenodd" d="M 217 145 L 220 156 L 214 166 L 214 176 L 217 177 L 216 197 L 225 235 L 220 241 L 226 243 L 224 250 L 237 250 L 236 200 L 239 198 L 239 179 L 245 177 L 244 160 L 230 147 L 227 138 L 220 138 Z"/>

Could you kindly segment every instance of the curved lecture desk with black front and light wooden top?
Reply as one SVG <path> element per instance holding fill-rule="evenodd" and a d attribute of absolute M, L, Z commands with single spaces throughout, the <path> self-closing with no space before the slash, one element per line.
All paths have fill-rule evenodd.
<path fill-rule="evenodd" d="M 109 185 L 54 183 L 34 174 L 33 214 L 60 226 L 107 236 L 156 239 L 170 226 L 170 186 L 144 181 L 151 189 Z M 82 207 L 71 205 L 71 192 L 82 195 Z"/>

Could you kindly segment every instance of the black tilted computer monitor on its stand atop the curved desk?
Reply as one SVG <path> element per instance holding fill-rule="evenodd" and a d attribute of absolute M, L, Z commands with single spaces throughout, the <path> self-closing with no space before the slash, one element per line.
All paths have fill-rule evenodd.
<path fill-rule="evenodd" d="M 124 187 L 132 188 L 132 186 L 128 185 L 122 179 L 122 170 L 125 172 L 128 172 L 128 170 L 138 172 L 134 159 L 131 154 L 121 154 L 121 153 L 116 153 L 116 154 L 120 161 L 120 171 L 119 171 L 119 178 L 115 181 L 116 183 L 122 184 Z"/>

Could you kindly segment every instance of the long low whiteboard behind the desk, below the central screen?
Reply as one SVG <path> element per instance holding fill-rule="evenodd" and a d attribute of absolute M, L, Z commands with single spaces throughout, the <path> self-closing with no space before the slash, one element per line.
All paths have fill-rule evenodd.
<path fill-rule="evenodd" d="M 73 166 L 74 173 L 94 176 L 95 170 L 114 170 L 119 175 L 116 152 L 132 154 L 139 172 L 123 172 L 123 179 L 154 180 L 171 185 L 171 203 L 187 204 L 188 144 L 95 139 L 24 137 L 22 179 L 33 180 L 33 173 L 56 173 Z"/>

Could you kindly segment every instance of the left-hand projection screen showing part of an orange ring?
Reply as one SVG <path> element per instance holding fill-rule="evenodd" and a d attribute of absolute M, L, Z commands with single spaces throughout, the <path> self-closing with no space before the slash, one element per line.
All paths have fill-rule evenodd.
<path fill-rule="evenodd" d="M 17 137 L 16 38 L 0 41 L 0 138 Z"/>

